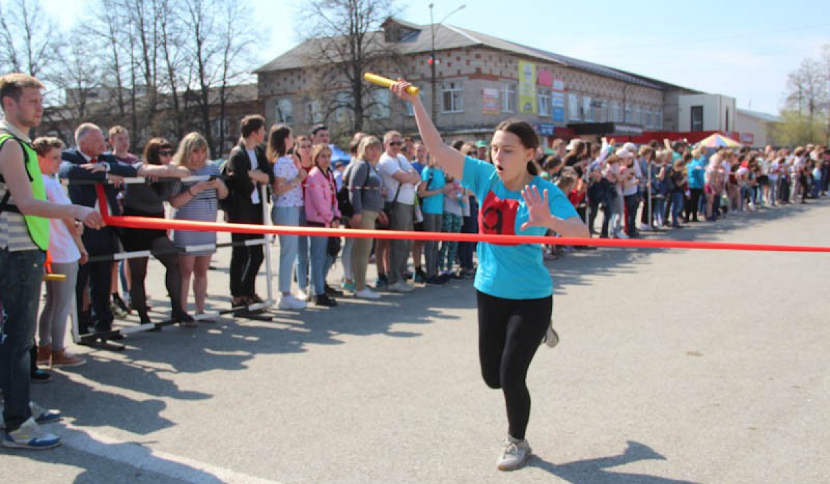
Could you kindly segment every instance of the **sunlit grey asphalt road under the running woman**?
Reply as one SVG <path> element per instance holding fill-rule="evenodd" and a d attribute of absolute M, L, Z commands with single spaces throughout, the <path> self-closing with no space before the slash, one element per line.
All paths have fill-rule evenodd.
<path fill-rule="evenodd" d="M 662 237 L 826 246 L 830 202 Z M 34 388 L 66 414 L 50 426 L 64 445 L 0 449 L 2 482 L 828 482 L 830 255 L 601 249 L 549 267 L 562 343 L 530 369 L 535 457 L 518 472 L 496 471 L 503 399 L 456 281 L 77 348 L 87 364 Z"/>

